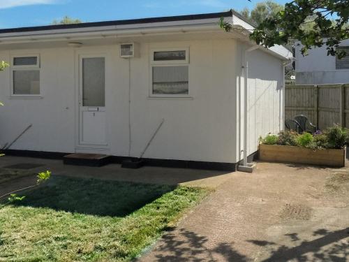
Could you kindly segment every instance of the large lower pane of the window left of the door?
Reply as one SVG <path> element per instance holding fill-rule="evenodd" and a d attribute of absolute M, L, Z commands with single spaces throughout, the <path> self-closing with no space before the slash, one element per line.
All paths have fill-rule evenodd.
<path fill-rule="evenodd" d="M 40 71 L 13 71 L 13 94 L 40 94 Z"/>

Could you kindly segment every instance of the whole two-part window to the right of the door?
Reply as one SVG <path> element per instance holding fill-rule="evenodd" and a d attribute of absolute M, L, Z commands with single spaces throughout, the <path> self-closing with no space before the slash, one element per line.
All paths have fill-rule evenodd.
<path fill-rule="evenodd" d="M 151 51 L 151 96 L 189 95 L 189 50 Z"/>

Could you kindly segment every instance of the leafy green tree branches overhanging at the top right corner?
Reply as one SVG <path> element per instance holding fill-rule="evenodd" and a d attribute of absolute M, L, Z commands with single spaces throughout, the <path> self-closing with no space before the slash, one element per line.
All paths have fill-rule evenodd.
<path fill-rule="evenodd" d="M 346 52 L 336 48 L 349 38 L 348 17 L 349 0 L 294 0 L 275 17 L 263 20 L 250 37 L 267 48 L 299 40 L 302 54 L 325 45 L 327 55 L 341 59 Z"/>

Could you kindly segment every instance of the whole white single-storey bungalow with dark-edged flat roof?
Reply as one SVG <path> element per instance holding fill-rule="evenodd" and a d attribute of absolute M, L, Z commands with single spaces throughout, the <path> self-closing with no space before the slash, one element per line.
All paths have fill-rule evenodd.
<path fill-rule="evenodd" d="M 148 163 L 234 170 L 283 129 L 292 57 L 251 29 L 234 11 L 1 29 L 0 147 L 32 124 L 10 150 L 140 157 L 164 121 Z"/>

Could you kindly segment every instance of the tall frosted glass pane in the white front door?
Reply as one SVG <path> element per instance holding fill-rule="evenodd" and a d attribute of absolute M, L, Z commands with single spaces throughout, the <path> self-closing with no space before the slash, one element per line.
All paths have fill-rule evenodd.
<path fill-rule="evenodd" d="M 105 106 L 105 59 L 82 59 L 82 105 Z"/>

